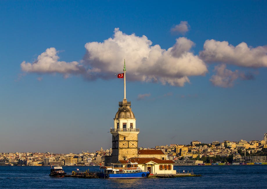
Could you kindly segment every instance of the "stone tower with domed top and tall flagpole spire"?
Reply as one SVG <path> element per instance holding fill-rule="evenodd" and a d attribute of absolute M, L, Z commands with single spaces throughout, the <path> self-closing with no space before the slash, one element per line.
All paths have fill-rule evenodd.
<path fill-rule="evenodd" d="M 105 165 L 117 163 L 119 160 L 137 157 L 139 128 L 135 127 L 135 115 L 131 102 L 126 99 L 126 66 L 124 60 L 124 98 L 119 102 L 119 110 L 114 118 L 112 134 L 112 156 L 105 157 Z"/>

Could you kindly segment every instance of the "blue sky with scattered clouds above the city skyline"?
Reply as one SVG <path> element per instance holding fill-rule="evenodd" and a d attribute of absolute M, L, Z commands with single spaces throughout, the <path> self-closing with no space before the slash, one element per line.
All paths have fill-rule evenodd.
<path fill-rule="evenodd" d="M 267 1 L 0 1 L 0 152 L 263 140 Z"/>

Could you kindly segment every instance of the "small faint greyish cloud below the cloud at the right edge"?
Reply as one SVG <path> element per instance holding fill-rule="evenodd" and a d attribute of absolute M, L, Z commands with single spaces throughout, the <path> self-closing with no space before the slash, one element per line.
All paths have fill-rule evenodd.
<path fill-rule="evenodd" d="M 234 81 L 239 77 L 238 70 L 232 72 L 226 69 L 225 64 L 215 66 L 214 71 L 217 73 L 216 75 L 212 75 L 209 81 L 211 81 L 213 85 L 219 87 L 232 87 L 234 86 Z"/>

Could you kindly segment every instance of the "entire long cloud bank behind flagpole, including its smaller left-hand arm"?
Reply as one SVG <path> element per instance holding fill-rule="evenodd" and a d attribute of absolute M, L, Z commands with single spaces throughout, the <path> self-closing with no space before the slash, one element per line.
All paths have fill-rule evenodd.
<path fill-rule="evenodd" d="M 126 59 L 126 78 L 130 81 L 161 82 L 163 85 L 184 86 L 189 76 L 205 75 L 207 66 L 190 50 L 194 43 L 178 38 L 165 50 L 143 35 L 127 35 L 115 28 L 114 36 L 104 42 L 85 44 L 86 54 L 80 63 L 58 61 L 58 51 L 51 47 L 40 54 L 33 63 L 21 63 L 24 72 L 60 73 L 64 78 L 80 74 L 88 80 L 114 79 L 123 72 Z"/>

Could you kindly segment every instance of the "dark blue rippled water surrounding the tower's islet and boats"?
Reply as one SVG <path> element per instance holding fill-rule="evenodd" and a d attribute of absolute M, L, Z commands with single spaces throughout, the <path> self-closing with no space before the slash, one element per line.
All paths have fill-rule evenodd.
<path fill-rule="evenodd" d="M 63 167 L 72 170 L 99 167 Z M 201 177 L 169 179 L 80 179 L 51 178 L 50 167 L 0 166 L 0 188 L 267 188 L 267 165 L 177 166 Z"/>

